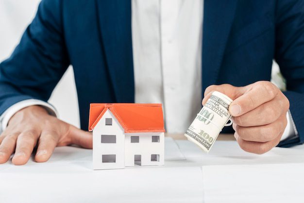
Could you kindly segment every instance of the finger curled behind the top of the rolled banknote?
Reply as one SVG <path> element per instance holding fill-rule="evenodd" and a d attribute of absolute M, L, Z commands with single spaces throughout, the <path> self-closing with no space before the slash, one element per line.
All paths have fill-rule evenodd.
<path fill-rule="evenodd" d="M 229 84 L 223 84 L 223 85 L 210 85 L 205 89 L 204 92 L 204 98 L 202 101 L 202 104 L 204 105 L 207 100 L 210 98 L 212 93 L 214 91 L 218 91 L 220 93 L 223 93 L 224 95 L 227 95 L 232 100 L 235 100 L 239 96 L 243 95 L 248 89 L 248 86 L 233 86 Z"/>

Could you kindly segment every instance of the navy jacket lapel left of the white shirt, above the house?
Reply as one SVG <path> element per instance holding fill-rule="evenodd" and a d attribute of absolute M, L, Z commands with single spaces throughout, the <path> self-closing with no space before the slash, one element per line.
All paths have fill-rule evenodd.
<path fill-rule="evenodd" d="M 101 42 L 117 102 L 134 102 L 131 0 L 96 0 Z"/>

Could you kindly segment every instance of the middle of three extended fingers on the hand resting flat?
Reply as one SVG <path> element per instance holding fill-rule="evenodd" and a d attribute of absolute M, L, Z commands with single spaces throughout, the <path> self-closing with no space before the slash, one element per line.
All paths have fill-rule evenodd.
<path fill-rule="evenodd" d="M 28 162 L 38 137 L 39 133 L 33 130 L 24 131 L 17 137 L 16 151 L 12 159 L 13 164 L 23 165 Z"/>

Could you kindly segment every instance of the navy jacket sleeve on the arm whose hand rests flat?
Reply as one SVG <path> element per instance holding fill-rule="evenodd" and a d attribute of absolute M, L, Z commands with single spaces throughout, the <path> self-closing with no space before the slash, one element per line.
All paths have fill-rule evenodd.
<path fill-rule="evenodd" d="M 15 51 L 0 64 L 0 115 L 18 101 L 47 101 L 68 68 L 61 2 L 41 1 Z"/>

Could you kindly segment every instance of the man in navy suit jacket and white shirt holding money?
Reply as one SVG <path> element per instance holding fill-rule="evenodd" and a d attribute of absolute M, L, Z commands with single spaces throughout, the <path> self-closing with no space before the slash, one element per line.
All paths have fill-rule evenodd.
<path fill-rule="evenodd" d="M 182 133 L 214 90 L 234 100 L 243 150 L 302 144 L 303 16 L 303 0 L 42 0 L 0 64 L 0 163 L 15 152 L 25 164 L 36 145 L 37 162 L 56 146 L 91 148 L 92 102 L 162 102 L 167 131 Z M 287 91 L 269 82 L 273 59 Z M 82 130 L 47 103 L 69 65 Z"/>

